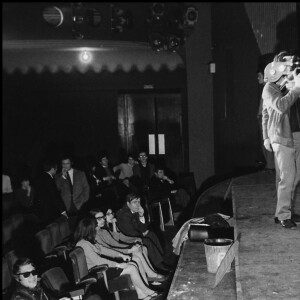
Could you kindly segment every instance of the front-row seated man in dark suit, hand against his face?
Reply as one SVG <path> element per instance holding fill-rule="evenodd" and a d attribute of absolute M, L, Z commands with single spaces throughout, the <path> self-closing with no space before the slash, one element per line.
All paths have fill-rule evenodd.
<path fill-rule="evenodd" d="M 164 251 L 156 234 L 149 229 L 139 196 L 133 193 L 127 195 L 126 203 L 117 212 L 117 224 L 124 235 L 142 239 L 148 249 L 150 262 L 157 271 L 168 271 L 163 264 Z"/>

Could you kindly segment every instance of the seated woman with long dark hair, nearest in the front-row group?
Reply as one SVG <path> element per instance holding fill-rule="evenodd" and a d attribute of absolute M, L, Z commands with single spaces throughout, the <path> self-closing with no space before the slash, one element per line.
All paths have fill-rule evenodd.
<path fill-rule="evenodd" d="M 74 240 L 77 247 L 84 250 L 88 269 L 97 265 L 107 264 L 107 278 L 112 279 L 119 275 L 130 275 L 131 281 L 136 289 L 138 299 L 150 300 L 158 296 L 151 290 L 140 276 L 135 262 L 117 262 L 116 259 L 129 260 L 130 256 L 122 254 L 113 249 L 105 248 L 96 242 L 95 218 L 85 217 L 80 220 L 75 232 Z"/>

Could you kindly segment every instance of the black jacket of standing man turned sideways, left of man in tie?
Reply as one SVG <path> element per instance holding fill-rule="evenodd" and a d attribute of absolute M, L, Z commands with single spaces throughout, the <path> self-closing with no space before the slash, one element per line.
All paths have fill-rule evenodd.
<path fill-rule="evenodd" d="M 66 210 L 54 178 L 46 172 L 37 181 L 36 201 L 39 217 L 45 222 L 54 220 Z"/>

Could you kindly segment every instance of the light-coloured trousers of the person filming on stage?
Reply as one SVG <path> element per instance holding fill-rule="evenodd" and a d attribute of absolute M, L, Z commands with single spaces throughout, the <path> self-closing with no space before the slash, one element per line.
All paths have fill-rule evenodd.
<path fill-rule="evenodd" d="M 293 133 L 294 148 L 272 144 L 275 155 L 277 207 L 275 216 L 279 220 L 291 218 L 300 182 L 300 132 Z"/>

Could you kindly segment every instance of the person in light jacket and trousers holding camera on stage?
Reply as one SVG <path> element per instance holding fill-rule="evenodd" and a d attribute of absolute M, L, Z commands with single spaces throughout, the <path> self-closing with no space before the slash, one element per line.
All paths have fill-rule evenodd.
<path fill-rule="evenodd" d="M 299 62 L 299 59 L 298 59 Z M 274 151 L 277 207 L 275 223 L 294 229 L 300 216 L 294 212 L 294 196 L 300 181 L 300 74 L 295 56 L 286 51 L 265 68 L 262 128 L 264 146 Z"/>

